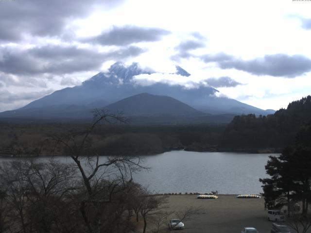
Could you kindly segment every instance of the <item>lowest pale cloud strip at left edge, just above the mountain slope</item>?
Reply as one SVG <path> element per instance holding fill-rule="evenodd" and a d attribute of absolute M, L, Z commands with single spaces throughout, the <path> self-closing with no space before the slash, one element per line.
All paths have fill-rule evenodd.
<path fill-rule="evenodd" d="M 0 91 L 0 102 L 1 103 L 13 103 L 19 100 L 35 100 L 43 96 L 46 96 L 48 94 L 51 94 L 52 92 L 53 90 L 49 89 L 49 90 L 38 91 L 38 92 L 24 92 L 24 93 L 13 94 L 7 90 L 2 90 Z"/>

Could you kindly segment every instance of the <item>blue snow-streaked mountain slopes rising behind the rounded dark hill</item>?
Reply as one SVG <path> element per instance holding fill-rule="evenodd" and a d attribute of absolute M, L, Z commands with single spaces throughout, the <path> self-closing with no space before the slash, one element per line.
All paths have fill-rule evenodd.
<path fill-rule="evenodd" d="M 190 73 L 179 66 L 175 74 L 189 77 Z M 107 104 L 140 93 L 169 96 L 191 107 L 212 114 L 262 114 L 265 111 L 237 100 L 216 97 L 218 92 L 213 87 L 201 85 L 185 88 L 182 84 L 152 83 L 143 86 L 133 82 L 133 77 L 140 74 L 152 74 L 155 71 L 141 68 L 138 63 L 125 66 L 121 62 L 113 64 L 108 71 L 100 72 L 82 83 L 82 85 L 64 88 L 39 100 L 35 100 L 21 109 L 40 108 L 62 104 L 104 107 Z"/>

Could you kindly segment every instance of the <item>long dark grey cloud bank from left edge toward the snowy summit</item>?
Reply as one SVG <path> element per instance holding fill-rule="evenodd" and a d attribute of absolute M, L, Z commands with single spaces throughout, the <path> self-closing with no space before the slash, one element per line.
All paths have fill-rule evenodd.
<path fill-rule="evenodd" d="M 43 46 L 28 50 L 0 49 L 0 71 L 15 75 L 69 74 L 99 69 L 107 60 L 126 60 L 145 52 L 135 46 L 98 52 L 76 46 Z"/>

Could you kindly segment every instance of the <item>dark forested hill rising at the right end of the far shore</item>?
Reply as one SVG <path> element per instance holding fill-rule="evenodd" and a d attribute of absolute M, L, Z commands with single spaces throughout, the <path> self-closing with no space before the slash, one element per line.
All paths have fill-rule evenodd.
<path fill-rule="evenodd" d="M 293 143 L 299 127 L 311 121 L 311 96 L 291 102 L 273 115 L 235 116 L 222 135 L 220 147 L 282 149 Z"/>

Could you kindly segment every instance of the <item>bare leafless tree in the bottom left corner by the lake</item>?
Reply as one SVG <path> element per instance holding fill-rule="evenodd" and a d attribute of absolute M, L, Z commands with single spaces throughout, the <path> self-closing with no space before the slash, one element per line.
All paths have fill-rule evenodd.
<path fill-rule="evenodd" d="M 7 215 L 11 232 L 50 232 L 66 212 L 70 191 L 74 190 L 74 170 L 54 160 L 39 163 L 19 160 L 3 163 L 0 182 L 6 188 Z"/>

